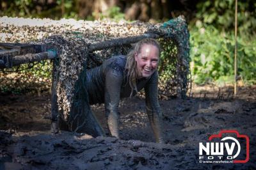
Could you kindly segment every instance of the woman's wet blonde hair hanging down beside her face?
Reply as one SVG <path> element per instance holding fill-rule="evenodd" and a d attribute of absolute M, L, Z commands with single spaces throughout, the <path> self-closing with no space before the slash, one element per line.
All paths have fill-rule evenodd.
<path fill-rule="evenodd" d="M 138 70 L 137 70 L 137 63 L 135 61 L 135 54 L 139 54 L 141 52 L 141 47 L 145 44 L 154 45 L 155 47 L 157 47 L 157 49 L 159 50 L 159 55 L 161 52 L 161 48 L 157 40 L 153 38 L 145 38 L 143 40 L 140 40 L 140 42 L 135 43 L 132 50 L 127 54 L 125 70 L 127 71 L 128 82 L 131 86 L 130 98 L 132 97 L 133 90 L 138 92 L 137 86 L 136 86 L 136 79 L 138 79 Z"/>

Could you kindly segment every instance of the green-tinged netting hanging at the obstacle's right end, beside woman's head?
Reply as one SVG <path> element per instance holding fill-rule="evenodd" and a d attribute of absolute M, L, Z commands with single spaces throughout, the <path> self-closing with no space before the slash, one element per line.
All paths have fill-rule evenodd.
<path fill-rule="evenodd" d="M 191 61 L 189 56 L 189 31 L 184 22 L 184 19 L 178 17 L 177 19 L 164 22 L 163 26 L 160 27 L 166 33 L 163 40 L 160 40 L 164 49 L 162 58 L 166 61 L 162 65 L 162 72 L 163 76 L 168 77 L 164 78 L 165 82 L 160 84 L 166 85 L 173 82 L 177 87 L 176 95 L 182 98 L 186 97 L 189 84 L 191 84 L 189 71 L 189 62 Z M 163 91 L 163 93 L 166 93 L 166 91 Z"/>

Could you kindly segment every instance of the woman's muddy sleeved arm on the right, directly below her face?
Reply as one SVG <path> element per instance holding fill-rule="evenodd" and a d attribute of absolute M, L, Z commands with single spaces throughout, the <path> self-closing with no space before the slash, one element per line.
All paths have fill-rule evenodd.
<path fill-rule="evenodd" d="M 163 139 L 163 119 L 158 102 L 158 73 L 155 72 L 150 81 L 145 86 L 146 107 L 148 119 L 156 137 L 157 143 L 164 143 Z"/>

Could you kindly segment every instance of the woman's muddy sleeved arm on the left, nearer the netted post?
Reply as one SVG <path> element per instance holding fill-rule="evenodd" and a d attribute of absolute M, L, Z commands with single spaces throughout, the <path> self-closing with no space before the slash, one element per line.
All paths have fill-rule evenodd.
<path fill-rule="evenodd" d="M 117 70 L 109 69 L 105 81 L 105 111 L 108 119 L 108 128 L 111 135 L 119 138 L 118 133 L 118 106 L 123 74 Z"/>

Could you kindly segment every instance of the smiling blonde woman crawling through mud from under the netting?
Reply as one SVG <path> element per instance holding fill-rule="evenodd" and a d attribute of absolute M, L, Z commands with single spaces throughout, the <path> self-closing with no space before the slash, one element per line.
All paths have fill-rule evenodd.
<path fill-rule="evenodd" d="M 104 61 L 102 65 L 86 71 L 90 105 L 104 103 L 108 128 L 114 137 L 119 138 L 120 98 L 132 97 L 144 88 L 148 119 L 156 142 L 164 143 L 162 113 L 157 98 L 159 54 L 159 43 L 152 38 L 145 38 L 136 43 L 127 56 L 114 56 Z M 93 136 L 105 135 L 102 127 L 96 125 L 99 123 L 95 116 L 92 115 L 89 119 L 96 120 L 94 126 L 98 126 L 94 128 Z"/>

